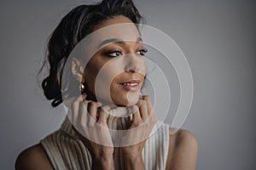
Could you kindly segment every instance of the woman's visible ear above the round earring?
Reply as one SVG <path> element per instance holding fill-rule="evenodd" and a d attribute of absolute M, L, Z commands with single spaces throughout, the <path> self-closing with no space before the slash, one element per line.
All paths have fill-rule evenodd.
<path fill-rule="evenodd" d="M 71 64 L 71 71 L 73 74 L 73 77 L 75 77 L 79 82 L 84 82 L 83 72 L 84 68 L 81 65 L 81 62 L 79 59 L 73 58 L 72 64 Z"/>

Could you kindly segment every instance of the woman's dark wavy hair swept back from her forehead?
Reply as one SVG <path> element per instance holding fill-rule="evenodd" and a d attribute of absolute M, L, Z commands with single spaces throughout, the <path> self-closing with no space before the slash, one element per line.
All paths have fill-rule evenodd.
<path fill-rule="evenodd" d="M 73 48 L 89 35 L 96 25 L 118 15 L 124 15 L 133 23 L 144 21 L 131 0 L 102 0 L 101 3 L 73 8 L 55 28 L 49 37 L 47 58 L 39 71 L 42 72 L 44 66 L 49 64 L 49 75 L 44 78 L 42 88 L 45 97 L 52 100 L 53 107 L 62 103 L 61 77 L 67 57 Z"/>

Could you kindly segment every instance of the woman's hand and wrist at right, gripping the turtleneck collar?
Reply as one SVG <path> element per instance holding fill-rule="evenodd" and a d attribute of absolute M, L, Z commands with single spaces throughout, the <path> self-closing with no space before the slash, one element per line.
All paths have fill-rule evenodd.
<path fill-rule="evenodd" d="M 132 116 L 130 130 L 123 139 L 124 147 L 120 148 L 120 152 L 124 156 L 126 169 L 144 169 L 142 150 L 157 118 L 148 95 L 144 95 L 138 100 L 137 105 L 133 105 L 133 111 L 135 113 Z"/>

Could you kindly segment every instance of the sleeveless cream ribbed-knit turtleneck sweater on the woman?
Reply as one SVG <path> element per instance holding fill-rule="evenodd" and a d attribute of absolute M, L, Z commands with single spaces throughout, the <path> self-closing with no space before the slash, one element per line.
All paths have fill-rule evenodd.
<path fill-rule="evenodd" d="M 125 111 L 113 109 L 111 115 Z M 111 129 L 127 129 L 130 125 L 131 116 L 113 117 L 108 116 L 108 127 Z M 166 160 L 169 149 L 169 125 L 157 122 L 152 129 L 150 137 L 143 148 L 143 161 L 147 170 L 166 169 Z M 78 138 L 72 128 L 72 124 L 66 117 L 61 128 L 50 133 L 40 140 L 49 161 L 56 170 L 89 170 L 91 168 L 91 156 L 89 150 Z M 122 156 L 118 151 L 114 152 L 113 162 L 116 170 L 124 169 Z"/>

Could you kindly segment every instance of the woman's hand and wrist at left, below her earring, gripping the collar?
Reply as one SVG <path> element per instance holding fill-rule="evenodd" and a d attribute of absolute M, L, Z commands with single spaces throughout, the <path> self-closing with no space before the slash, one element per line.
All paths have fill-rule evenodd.
<path fill-rule="evenodd" d="M 72 104 L 73 129 L 90 151 L 93 169 L 113 169 L 113 142 L 108 131 L 108 105 L 80 95 Z M 98 107 L 101 107 L 99 110 Z"/>

